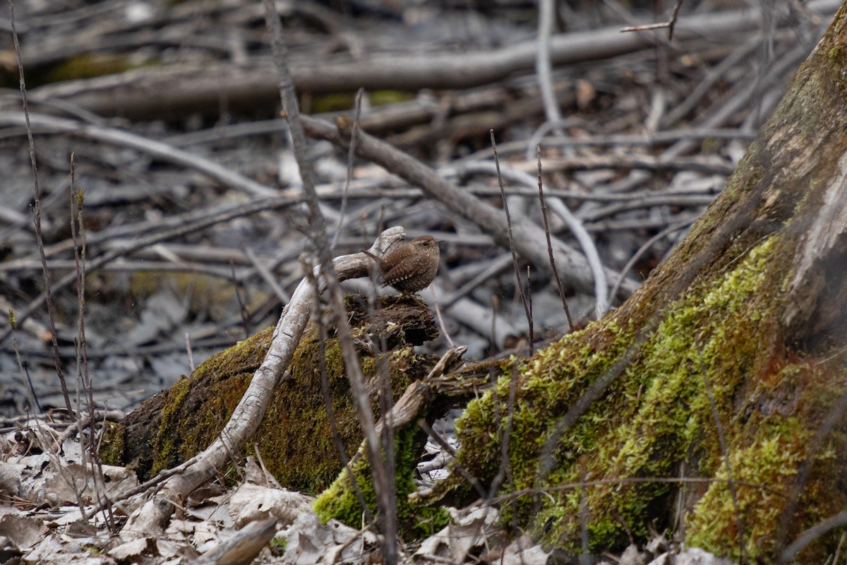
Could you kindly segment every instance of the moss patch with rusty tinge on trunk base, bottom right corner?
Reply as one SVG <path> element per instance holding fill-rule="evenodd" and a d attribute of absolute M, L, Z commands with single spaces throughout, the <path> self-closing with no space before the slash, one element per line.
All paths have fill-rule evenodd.
<path fill-rule="evenodd" d="M 686 528 L 690 543 L 740 559 L 739 521 L 745 553 L 753 561 L 770 562 L 777 549 L 775 526 L 782 518 L 800 465 L 812 462 L 810 477 L 800 496 L 792 527 L 819 523 L 847 504 L 843 484 L 845 461 L 843 432 L 835 432 L 828 445 L 813 450 L 812 438 L 844 391 L 845 375 L 828 374 L 814 363 L 798 359 L 761 379 L 741 412 L 748 414 L 728 451 L 728 464 L 736 486 L 733 501 L 727 469 L 720 461 L 715 476 L 722 482 L 708 486 L 689 514 Z M 840 446 L 840 448 L 838 447 Z M 838 544 L 839 533 L 819 540 L 820 546 Z M 820 550 L 819 550 L 820 551 Z M 805 555 L 799 562 L 817 562 Z"/>

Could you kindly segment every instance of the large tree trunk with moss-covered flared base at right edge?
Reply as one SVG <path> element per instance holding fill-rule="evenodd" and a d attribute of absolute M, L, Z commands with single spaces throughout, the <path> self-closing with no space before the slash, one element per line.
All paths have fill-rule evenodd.
<path fill-rule="evenodd" d="M 847 507 L 845 20 L 842 6 L 639 291 L 504 374 L 459 422 L 457 463 L 513 493 L 506 512 L 550 546 L 579 551 L 583 508 L 597 550 L 655 523 L 771 562 Z M 467 493 L 460 480 L 445 490 Z M 797 558 L 823 562 L 839 535 Z"/>

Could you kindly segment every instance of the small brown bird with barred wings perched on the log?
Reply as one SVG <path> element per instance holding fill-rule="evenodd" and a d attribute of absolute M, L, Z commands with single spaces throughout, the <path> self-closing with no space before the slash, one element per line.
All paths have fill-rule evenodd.
<path fill-rule="evenodd" d="M 382 285 L 389 285 L 404 294 L 424 290 L 438 271 L 438 240 L 421 235 L 379 260 Z"/>

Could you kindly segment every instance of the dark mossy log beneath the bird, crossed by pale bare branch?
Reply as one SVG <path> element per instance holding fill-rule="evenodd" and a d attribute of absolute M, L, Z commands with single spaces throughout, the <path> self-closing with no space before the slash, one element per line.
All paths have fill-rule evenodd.
<path fill-rule="evenodd" d="M 412 347 L 434 339 L 438 330 L 429 307 L 411 297 L 385 297 L 377 310 L 383 320 L 379 324 L 368 315 L 362 296 L 348 296 L 346 306 L 353 335 L 362 344 L 375 344 L 363 346 L 361 358 L 372 407 L 379 414 L 379 395 L 385 391 L 386 378 L 392 396 L 399 396 L 435 365 L 437 357 L 418 355 Z M 209 357 L 190 377 L 142 403 L 110 431 L 103 457 L 130 465 L 141 479 L 147 479 L 205 449 L 223 429 L 262 363 L 272 331 L 260 331 Z M 387 352 L 374 356 L 380 343 Z M 322 340 L 317 325 L 309 324 L 289 373 L 274 391 L 247 450 L 252 452 L 257 446 L 281 485 L 317 492 L 342 468 L 334 435 L 343 444 L 346 457 L 352 457 L 363 438 L 338 340 L 333 336 Z"/>

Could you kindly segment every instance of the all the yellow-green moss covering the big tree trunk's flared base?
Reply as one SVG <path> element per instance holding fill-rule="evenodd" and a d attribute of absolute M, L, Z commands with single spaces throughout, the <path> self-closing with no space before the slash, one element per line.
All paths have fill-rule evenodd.
<path fill-rule="evenodd" d="M 514 368 L 518 371 L 518 396 L 508 446 L 514 484 L 503 485 L 501 490 L 535 488 L 548 494 L 510 504 L 507 520 L 512 512 L 518 512 L 523 526 L 548 545 L 578 549 L 582 527 L 579 489 L 553 487 L 605 479 L 608 484 L 591 486 L 584 498 L 590 509 L 591 546 L 623 546 L 628 533 L 643 539 L 650 519 L 656 515 L 671 518 L 671 495 L 677 487 L 616 479 L 673 477 L 683 464 L 689 476 L 719 478 L 722 453 L 710 391 L 731 451 L 730 464 L 738 467 L 734 479 L 777 488 L 787 485 L 790 473 L 781 470 L 782 464 L 805 457 L 806 440 L 817 420 L 808 418 L 808 413 L 805 418 L 785 418 L 780 413 L 766 418 L 761 407 L 753 406 L 749 412 L 759 409 L 760 413 L 739 421 L 733 418 L 739 402 L 751 398 L 764 402 L 762 398 L 773 395 L 778 390 L 774 385 L 780 382 L 789 387 L 785 398 L 802 395 L 799 401 L 792 401 L 803 406 L 798 410 L 822 411 L 819 399 L 833 396 L 835 385 L 818 383 L 817 391 L 809 390 L 812 371 L 802 360 L 786 362 L 775 372 L 767 364 L 774 357 L 775 346 L 759 340 L 761 335 L 775 333 L 771 326 L 777 313 L 767 309 L 766 300 L 778 304 L 789 276 L 775 276 L 779 271 L 773 268 L 772 258 L 779 256 L 778 241 L 776 236 L 761 241 L 716 280 L 693 285 L 688 295 L 665 309 L 662 322 L 646 340 L 619 328 L 615 318 L 609 317 Z M 556 442 L 551 453 L 555 464 L 539 482 L 539 456 L 557 424 L 556 419 L 544 418 L 567 413 L 591 383 L 608 374 L 623 352 L 629 356 L 623 374 Z M 505 426 L 497 425 L 495 413 L 499 410 L 505 422 L 511 379 L 512 374 L 504 374 L 495 391 L 473 402 L 457 422 L 462 442 L 458 464 L 479 478 L 490 479 L 501 464 L 501 430 Z M 494 402 L 495 396 L 499 402 Z M 809 427 L 802 427 L 801 422 Z M 784 480 L 777 480 L 779 476 Z M 707 549 L 734 555 L 737 538 L 731 535 L 734 522 L 730 518 L 734 518 L 727 512 L 726 485 L 716 483 L 711 489 L 714 491 L 709 491 L 689 518 L 689 535 Z M 761 488 L 740 490 L 748 501 L 747 541 L 761 548 L 761 540 L 775 533 L 773 517 L 782 512 L 784 496 L 763 496 Z M 807 512 L 825 515 L 821 502 L 815 504 Z M 825 506 L 838 507 L 829 500 Z M 761 558 L 764 554 L 767 546 L 756 555 Z"/>

